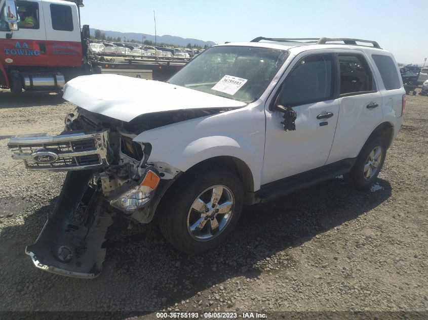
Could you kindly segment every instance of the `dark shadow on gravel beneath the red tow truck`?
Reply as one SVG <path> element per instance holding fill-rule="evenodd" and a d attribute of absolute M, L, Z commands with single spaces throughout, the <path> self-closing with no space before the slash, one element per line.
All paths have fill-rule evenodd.
<path fill-rule="evenodd" d="M 13 94 L 7 91 L 0 91 L 0 109 L 56 106 L 62 103 L 64 103 L 62 94 L 34 92 Z"/>

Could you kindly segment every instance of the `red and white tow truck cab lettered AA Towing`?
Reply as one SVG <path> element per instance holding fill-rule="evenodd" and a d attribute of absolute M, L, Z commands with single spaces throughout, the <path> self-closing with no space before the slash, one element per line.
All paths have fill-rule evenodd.
<path fill-rule="evenodd" d="M 79 8 L 60 0 L 0 0 L 0 86 L 62 89 L 84 65 Z"/>

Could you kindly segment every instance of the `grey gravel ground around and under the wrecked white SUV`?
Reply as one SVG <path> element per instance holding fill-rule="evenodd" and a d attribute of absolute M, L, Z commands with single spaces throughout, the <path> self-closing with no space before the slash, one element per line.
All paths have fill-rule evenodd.
<path fill-rule="evenodd" d="M 25 170 L 4 137 L 58 133 L 72 110 L 58 95 L 0 90 L 0 310 L 428 311 L 428 97 L 407 96 L 371 190 L 336 178 L 245 208 L 232 236 L 197 256 L 117 218 L 94 280 L 38 270 L 25 255 L 65 175 Z"/>

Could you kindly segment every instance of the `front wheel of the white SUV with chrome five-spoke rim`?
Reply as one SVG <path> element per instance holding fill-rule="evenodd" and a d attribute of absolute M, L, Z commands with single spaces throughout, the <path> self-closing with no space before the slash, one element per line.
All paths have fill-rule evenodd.
<path fill-rule="evenodd" d="M 165 238 L 178 250 L 198 253 L 220 244 L 241 215 L 244 191 L 226 170 L 189 174 L 174 189 L 160 212 Z"/>

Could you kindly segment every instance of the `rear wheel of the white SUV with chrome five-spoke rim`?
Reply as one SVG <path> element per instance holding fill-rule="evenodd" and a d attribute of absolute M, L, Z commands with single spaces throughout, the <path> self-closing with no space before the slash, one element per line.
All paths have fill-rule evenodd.
<path fill-rule="evenodd" d="M 345 181 L 357 189 L 367 189 L 377 178 L 386 156 L 386 142 L 380 136 L 369 140 L 358 155 Z"/>

